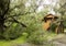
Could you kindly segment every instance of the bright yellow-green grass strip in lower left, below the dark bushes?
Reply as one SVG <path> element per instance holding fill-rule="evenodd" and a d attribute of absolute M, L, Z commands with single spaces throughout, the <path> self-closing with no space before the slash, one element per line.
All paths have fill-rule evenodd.
<path fill-rule="evenodd" d="M 15 46 L 18 44 L 23 44 L 25 43 L 25 37 L 24 36 L 21 36 L 16 39 L 13 39 L 13 41 L 1 41 L 0 39 L 0 46 Z"/>

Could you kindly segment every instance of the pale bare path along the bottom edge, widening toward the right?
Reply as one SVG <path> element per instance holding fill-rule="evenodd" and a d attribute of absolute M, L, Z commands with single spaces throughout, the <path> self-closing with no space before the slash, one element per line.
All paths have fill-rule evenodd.
<path fill-rule="evenodd" d="M 51 43 L 53 45 L 51 45 Z M 19 46 L 66 46 L 66 34 L 58 34 L 53 39 L 51 39 L 50 43 L 47 43 L 47 44 L 44 44 L 44 45 L 33 45 L 33 44 L 25 43 L 25 44 L 21 44 Z"/>

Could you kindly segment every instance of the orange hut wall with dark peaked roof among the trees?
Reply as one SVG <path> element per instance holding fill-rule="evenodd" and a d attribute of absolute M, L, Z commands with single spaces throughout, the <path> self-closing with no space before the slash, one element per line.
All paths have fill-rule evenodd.
<path fill-rule="evenodd" d="M 53 15 L 53 14 L 47 14 L 46 16 L 44 16 L 43 21 L 43 28 L 45 31 L 48 31 L 51 28 L 51 23 L 55 22 L 58 18 Z"/>

